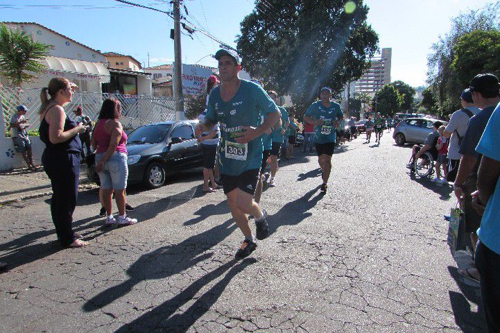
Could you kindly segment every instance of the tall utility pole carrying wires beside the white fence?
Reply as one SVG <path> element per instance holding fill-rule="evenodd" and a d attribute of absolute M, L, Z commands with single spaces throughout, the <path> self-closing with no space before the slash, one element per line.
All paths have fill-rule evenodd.
<path fill-rule="evenodd" d="M 173 0 L 173 50 L 175 53 L 175 67 L 173 93 L 175 96 L 175 120 L 184 119 L 184 98 L 182 96 L 182 52 L 180 46 L 180 2 Z"/>

